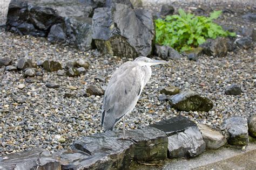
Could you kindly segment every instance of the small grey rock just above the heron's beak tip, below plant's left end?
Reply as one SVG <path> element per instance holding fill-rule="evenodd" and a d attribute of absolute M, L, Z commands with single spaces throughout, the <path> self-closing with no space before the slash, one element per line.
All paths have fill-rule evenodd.
<path fill-rule="evenodd" d="M 169 46 L 160 46 L 156 45 L 156 56 L 159 56 L 160 58 L 167 60 L 177 60 L 181 59 L 181 55 L 172 47 Z"/>

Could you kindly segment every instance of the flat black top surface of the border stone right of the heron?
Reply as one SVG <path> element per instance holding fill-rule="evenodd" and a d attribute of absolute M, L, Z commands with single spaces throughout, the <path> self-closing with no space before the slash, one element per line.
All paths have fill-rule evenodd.
<path fill-rule="evenodd" d="M 156 122 L 149 126 L 164 131 L 167 136 L 172 136 L 173 134 L 183 132 L 190 127 L 197 127 L 196 123 L 181 115 Z"/>

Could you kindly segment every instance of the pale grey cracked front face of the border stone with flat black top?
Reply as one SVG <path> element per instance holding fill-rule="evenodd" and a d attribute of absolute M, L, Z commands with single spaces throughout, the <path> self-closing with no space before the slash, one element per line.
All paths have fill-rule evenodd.
<path fill-rule="evenodd" d="M 190 127 L 168 137 L 168 153 L 170 158 L 196 157 L 203 153 L 206 144 L 197 127 Z"/>

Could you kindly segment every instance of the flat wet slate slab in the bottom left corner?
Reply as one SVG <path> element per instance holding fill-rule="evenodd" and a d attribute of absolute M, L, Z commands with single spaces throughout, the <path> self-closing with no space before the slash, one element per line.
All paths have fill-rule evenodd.
<path fill-rule="evenodd" d="M 57 159 L 43 148 L 11 153 L 0 158 L 0 169 L 61 169 Z"/>

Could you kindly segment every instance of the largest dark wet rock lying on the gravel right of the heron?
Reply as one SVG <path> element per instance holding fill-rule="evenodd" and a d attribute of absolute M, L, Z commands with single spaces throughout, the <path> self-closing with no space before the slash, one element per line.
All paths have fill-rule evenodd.
<path fill-rule="evenodd" d="M 195 91 L 184 91 L 172 96 L 169 101 L 173 108 L 181 111 L 209 111 L 213 107 L 210 99 L 199 96 Z"/>

